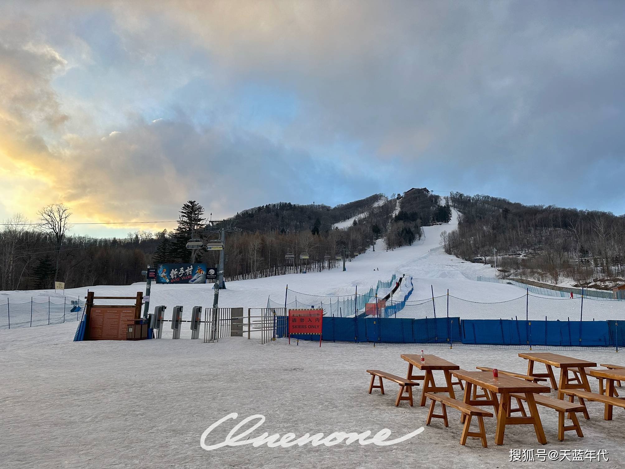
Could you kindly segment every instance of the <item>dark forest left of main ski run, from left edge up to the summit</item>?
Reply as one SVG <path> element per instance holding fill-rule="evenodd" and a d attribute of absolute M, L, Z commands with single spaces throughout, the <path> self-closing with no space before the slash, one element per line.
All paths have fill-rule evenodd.
<path fill-rule="evenodd" d="M 41 209 L 38 222 L 17 215 L 3 225 L 0 290 L 48 289 L 54 281 L 66 288 L 143 281 L 141 271 L 148 265 L 191 262 L 187 241 L 215 241 L 222 226 L 231 228 L 226 235 L 226 281 L 337 268 L 342 263 L 337 256 L 349 261 L 380 238 L 386 243 L 377 243 L 377 249 L 411 245 L 421 238 L 422 226 L 449 221 L 451 208 L 440 202 L 425 188 L 411 189 L 403 196 L 373 194 L 334 207 L 266 204 L 213 223 L 201 204 L 187 201 L 175 230 L 137 231 L 123 239 L 71 235 L 71 209 L 51 204 Z M 333 226 L 351 218 L 346 228 Z M 202 250 L 195 261 L 215 266 L 218 259 L 217 252 Z"/>

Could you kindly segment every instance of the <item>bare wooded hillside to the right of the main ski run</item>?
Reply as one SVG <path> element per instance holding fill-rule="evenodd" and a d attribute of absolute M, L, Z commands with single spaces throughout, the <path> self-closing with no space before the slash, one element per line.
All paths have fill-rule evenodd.
<path fill-rule="evenodd" d="M 451 193 L 458 228 L 443 233 L 447 253 L 492 260 L 499 276 L 579 285 L 625 275 L 625 216 L 609 212 L 513 203 L 485 195 Z"/>

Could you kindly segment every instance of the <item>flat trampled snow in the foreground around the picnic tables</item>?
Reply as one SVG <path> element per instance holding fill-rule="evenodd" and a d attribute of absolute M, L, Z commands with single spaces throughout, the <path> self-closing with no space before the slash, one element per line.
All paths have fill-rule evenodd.
<path fill-rule="evenodd" d="M 262 431 L 295 433 L 392 430 L 396 438 L 424 425 L 426 408 L 394 406 L 396 386 L 386 395 L 367 394 L 366 368 L 406 373 L 401 353 L 416 346 L 303 343 L 260 345 L 228 338 L 204 344 L 189 340 L 72 342 L 75 324 L 0 331 L 0 461 L 2 468 L 388 468 L 388 467 L 581 467 L 568 461 L 509 462 L 511 449 L 607 450 L 623 467 L 625 411 L 604 421 L 599 403 L 581 419 L 584 438 L 566 432 L 557 441 L 557 414 L 540 408 L 546 446 L 530 426 L 507 426 L 504 445 L 494 445 L 495 421 L 486 419 L 489 447 L 469 438 L 459 445 L 459 413 L 449 410 L 449 428 L 434 420 L 421 435 L 394 446 L 252 446 L 202 450 L 202 432 L 226 416 L 262 414 Z M 497 366 L 523 372 L 518 350 L 431 346 L 465 369 Z M 614 351 L 571 351 L 597 363 L 621 363 Z M 596 391 L 597 381 L 591 380 Z M 416 391 L 418 398 L 421 391 Z M 458 391 L 461 396 L 460 391 Z M 207 443 L 222 441 L 234 423 L 218 427 Z M 571 453 L 569 453 L 570 455 Z M 570 457 L 570 456 L 569 456 Z"/>

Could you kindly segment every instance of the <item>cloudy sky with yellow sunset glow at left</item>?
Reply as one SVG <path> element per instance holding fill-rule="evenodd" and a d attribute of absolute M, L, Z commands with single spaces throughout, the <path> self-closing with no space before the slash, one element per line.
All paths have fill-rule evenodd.
<path fill-rule="evenodd" d="M 623 1 L 2 1 L 0 219 L 411 187 L 622 214 L 624 50 Z"/>

